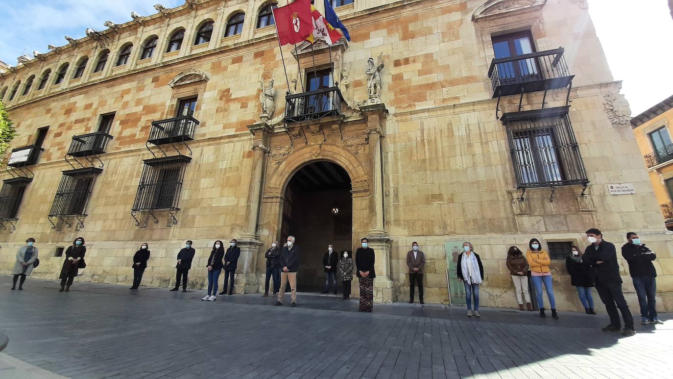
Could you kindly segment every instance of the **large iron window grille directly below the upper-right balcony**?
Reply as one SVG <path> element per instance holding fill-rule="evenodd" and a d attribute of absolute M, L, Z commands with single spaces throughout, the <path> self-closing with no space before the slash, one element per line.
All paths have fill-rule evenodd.
<path fill-rule="evenodd" d="M 586 170 L 568 116 L 569 106 L 509 112 L 501 120 L 518 188 L 586 185 Z"/>

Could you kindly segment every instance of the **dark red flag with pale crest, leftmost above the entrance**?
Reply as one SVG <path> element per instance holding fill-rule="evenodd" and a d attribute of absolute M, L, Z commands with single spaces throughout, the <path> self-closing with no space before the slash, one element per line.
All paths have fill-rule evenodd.
<path fill-rule="evenodd" d="M 281 46 L 302 42 L 313 36 L 310 0 L 296 0 L 285 7 L 273 9 L 273 18 Z"/>

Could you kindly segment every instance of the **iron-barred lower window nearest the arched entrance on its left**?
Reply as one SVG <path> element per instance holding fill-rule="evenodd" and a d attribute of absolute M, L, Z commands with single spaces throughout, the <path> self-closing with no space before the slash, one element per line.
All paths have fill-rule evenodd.
<path fill-rule="evenodd" d="M 178 209 L 187 156 L 145 160 L 133 211 Z"/>

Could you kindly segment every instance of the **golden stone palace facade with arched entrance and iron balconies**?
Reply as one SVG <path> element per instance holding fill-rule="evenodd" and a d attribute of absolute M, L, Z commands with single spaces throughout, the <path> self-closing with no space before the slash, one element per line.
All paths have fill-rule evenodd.
<path fill-rule="evenodd" d="M 673 306 L 671 239 L 586 1 L 337 3 L 351 41 L 330 48 L 281 55 L 268 1 L 190 0 L 9 69 L 0 96 L 19 135 L 2 266 L 32 236 L 36 275 L 55 278 L 83 236 L 79 280 L 129 283 L 147 242 L 144 281 L 168 287 L 190 239 L 190 285 L 203 287 L 213 241 L 236 238 L 236 291 L 250 293 L 273 240 L 297 237 L 309 288 L 328 243 L 354 250 L 367 236 L 376 300 L 409 298 L 416 241 L 425 301 L 460 303 L 452 264 L 468 240 L 485 266 L 481 303 L 516 306 L 506 252 L 536 237 L 555 257 L 557 308 L 576 310 L 565 254 L 597 227 L 617 245 L 635 230 L 659 252 L 660 308 Z M 625 182 L 635 193 L 609 194 Z"/>

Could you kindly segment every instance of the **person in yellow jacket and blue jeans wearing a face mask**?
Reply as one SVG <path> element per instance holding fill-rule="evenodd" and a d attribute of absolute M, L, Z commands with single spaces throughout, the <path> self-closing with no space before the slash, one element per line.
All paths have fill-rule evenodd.
<path fill-rule="evenodd" d="M 532 238 L 528 242 L 528 252 L 526 252 L 526 261 L 530 267 L 530 280 L 535 286 L 535 294 L 538 297 L 538 306 L 540 307 L 540 317 L 546 317 L 544 314 L 544 295 L 542 295 L 542 285 L 546 289 L 547 297 L 549 298 L 549 306 L 551 308 L 551 316 L 559 318 L 556 312 L 556 299 L 554 297 L 554 287 L 551 279 L 551 259 L 546 251 L 542 250 L 540 241 L 537 238 Z"/>

